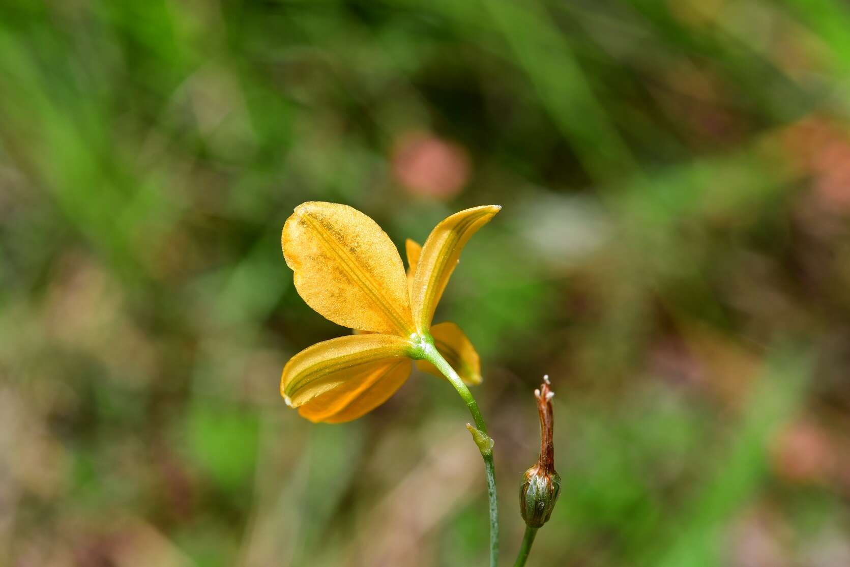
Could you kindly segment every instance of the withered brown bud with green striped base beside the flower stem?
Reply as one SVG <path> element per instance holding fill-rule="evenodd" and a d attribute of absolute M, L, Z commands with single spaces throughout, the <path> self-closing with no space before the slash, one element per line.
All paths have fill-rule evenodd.
<path fill-rule="evenodd" d="M 534 467 L 523 475 L 519 485 L 519 511 L 525 524 L 540 528 L 552 516 L 555 502 L 561 491 L 561 477 L 555 472 L 555 449 L 553 447 L 552 397 L 549 377 L 535 390 L 537 411 L 540 413 L 540 457 Z"/>

